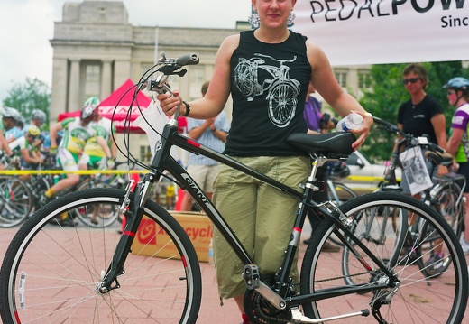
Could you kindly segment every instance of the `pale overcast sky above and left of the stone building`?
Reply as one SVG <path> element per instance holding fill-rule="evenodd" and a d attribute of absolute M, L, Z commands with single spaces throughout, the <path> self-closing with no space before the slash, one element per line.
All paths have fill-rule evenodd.
<path fill-rule="evenodd" d="M 106 0 L 104 0 L 106 1 Z M 0 1 L 0 104 L 15 84 L 39 79 L 51 87 L 54 22 L 66 2 Z M 251 13 L 248 0 L 122 0 L 129 23 L 140 26 L 234 28 Z"/>

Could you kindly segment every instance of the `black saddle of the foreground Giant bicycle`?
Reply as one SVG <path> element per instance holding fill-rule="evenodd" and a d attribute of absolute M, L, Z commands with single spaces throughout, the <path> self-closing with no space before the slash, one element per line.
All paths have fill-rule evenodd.
<path fill-rule="evenodd" d="M 327 158 L 346 159 L 351 153 L 355 135 L 347 132 L 327 134 L 290 134 L 287 143 L 306 153 L 320 153 Z"/>

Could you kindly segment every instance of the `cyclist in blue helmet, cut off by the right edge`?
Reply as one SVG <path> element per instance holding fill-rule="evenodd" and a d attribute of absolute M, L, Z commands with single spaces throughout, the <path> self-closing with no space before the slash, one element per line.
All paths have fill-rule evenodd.
<path fill-rule="evenodd" d="M 459 165 L 457 173 L 469 180 L 469 80 L 461 77 L 450 79 L 443 87 L 447 89 L 447 98 L 451 106 L 455 106 L 455 115 L 451 120 L 451 136 L 447 143 L 448 153 L 455 157 Z M 469 186 L 465 186 L 465 210 L 469 210 Z M 464 255 L 469 255 L 469 218 L 464 218 L 464 237 L 461 239 Z"/>

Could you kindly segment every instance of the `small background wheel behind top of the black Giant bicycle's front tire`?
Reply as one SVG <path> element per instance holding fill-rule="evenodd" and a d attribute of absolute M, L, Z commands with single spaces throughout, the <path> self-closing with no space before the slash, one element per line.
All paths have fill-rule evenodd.
<path fill-rule="evenodd" d="M 88 190 L 92 188 L 111 188 L 105 181 L 98 179 L 87 179 L 78 184 L 77 190 Z M 110 213 L 108 211 L 111 211 Z M 71 211 L 72 218 L 78 218 L 87 227 L 110 227 L 119 217 L 117 208 L 112 204 L 93 204 L 87 208 L 75 208 Z"/>

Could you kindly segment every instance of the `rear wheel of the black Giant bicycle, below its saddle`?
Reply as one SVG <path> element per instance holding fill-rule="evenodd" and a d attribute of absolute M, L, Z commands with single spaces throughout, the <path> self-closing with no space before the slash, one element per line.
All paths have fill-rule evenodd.
<path fill-rule="evenodd" d="M 437 215 L 435 209 L 411 197 L 390 192 L 376 192 L 351 199 L 340 209 L 348 218 L 353 218 L 354 215 L 370 208 L 379 209 L 390 206 L 408 210 L 410 213 L 415 213 L 412 215 L 418 215 L 425 219 L 425 224 L 433 227 L 443 239 L 443 247 L 446 249 L 446 253 L 452 257 L 451 266 L 446 269 L 445 273 L 435 278 L 426 278 L 411 264 L 392 266 L 391 260 L 395 259 L 400 251 L 395 247 L 397 237 L 388 236 L 386 245 L 374 245 L 372 241 L 365 245 L 370 248 L 372 255 L 387 262 L 391 272 L 398 276 L 401 284 L 386 290 L 361 294 L 349 292 L 339 295 L 338 290 L 350 290 L 353 287 L 344 282 L 344 274 L 340 270 L 342 259 L 336 254 L 321 253 L 321 248 L 326 243 L 328 236 L 337 230 L 334 223 L 328 219 L 315 230 L 311 238 L 311 245 L 308 245 L 301 266 L 300 289 L 302 293 L 326 292 L 327 290 L 333 295 L 326 300 L 303 304 L 302 309 L 308 317 L 321 319 L 337 314 L 357 312 L 365 307 L 370 307 L 376 301 L 385 301 L 386 298 L 389 298 L 390 301 L 382 303 L 379 310 L 382 322 L 395 324 L 462 322 L 469 289 L 467 264 L 461 245 L 446 222 Z M 354 245 L 354 247 L 361 252 L 358 245 Z M 429 254 L 429 251 L 426 253 Z M 374 282 L 385 282 L 387 276 L 377 270 L 372 258 L 369 255 L 362 256 L 361 263 L 356 259 L 354 264 L 350 264 L 354 274 L 363 276 L 362 287 L 372 287 Z M 363 264 L 368 264 L 370 268 L 364 269 Z M 377 319 L 373 316 L 354 316 L 346 319 L 346 322 L 376 323 Z"/>

